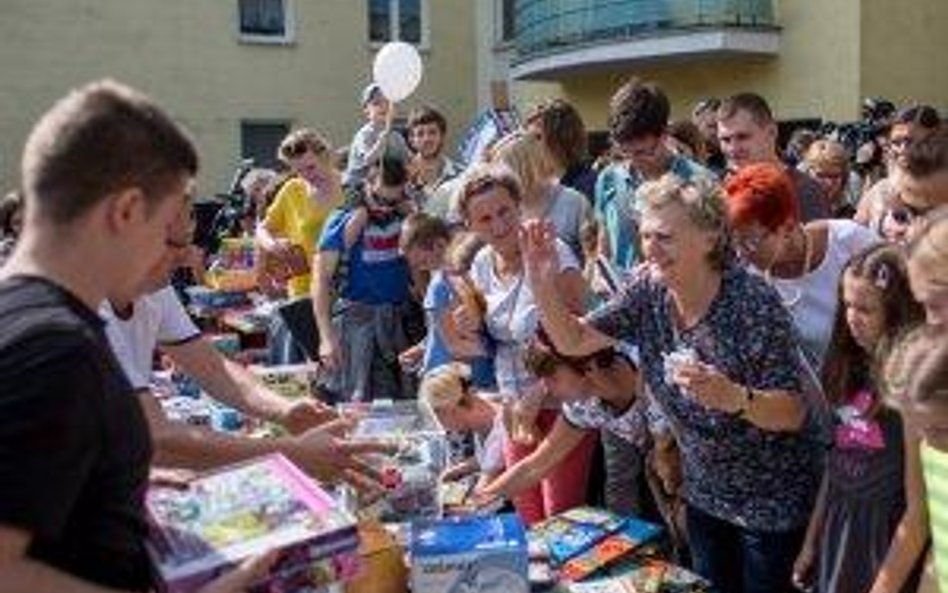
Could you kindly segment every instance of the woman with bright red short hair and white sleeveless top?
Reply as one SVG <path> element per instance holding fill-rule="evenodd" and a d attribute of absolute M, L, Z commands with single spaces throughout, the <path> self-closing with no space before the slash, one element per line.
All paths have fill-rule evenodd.
<path fill-rule="evenodd" d="M 819 369 L 833 329 L 839 275 L 849 258 L 879 237 L 851 220 L 801 223 L 793 181 L 772 163 L 748 165 L 724 187 L 738 254 L 780 293 L 807 358 Z"/>

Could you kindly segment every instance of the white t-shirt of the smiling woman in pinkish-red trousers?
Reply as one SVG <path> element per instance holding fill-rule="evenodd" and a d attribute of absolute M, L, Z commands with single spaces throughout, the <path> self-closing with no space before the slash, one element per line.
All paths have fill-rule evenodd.
<path fill-rule="evenodd" d="M 578 270 L 579 262 L 563 241 L 556 240 L 560 272 Z M 537 331 L 539 313 L 533 291 L 523 275 L 501 280 L 494 273 L 494 250 L 481 249 L 471 264 L 471 281 L 487 301 L 484 322 L 497 342 L 494 368 L 502 393 L 523 393 L 536 381 L 523 363 L 523 350 Z"/>

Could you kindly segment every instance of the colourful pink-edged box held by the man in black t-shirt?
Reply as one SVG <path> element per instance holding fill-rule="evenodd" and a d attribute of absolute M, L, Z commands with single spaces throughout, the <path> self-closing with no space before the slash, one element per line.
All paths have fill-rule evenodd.
<path fill-rule="evenodd" d="M 184 487 L 153 486 L 146 507 L 149 552 L 173 593 L 189 593 L 272 549 L 282 550 L 280 560 L 259 590 L 298 582 L 303 567 L 331 579 L 325 582 L 357 568 L 355 518 L 281 455 L 203 474 Z"/>

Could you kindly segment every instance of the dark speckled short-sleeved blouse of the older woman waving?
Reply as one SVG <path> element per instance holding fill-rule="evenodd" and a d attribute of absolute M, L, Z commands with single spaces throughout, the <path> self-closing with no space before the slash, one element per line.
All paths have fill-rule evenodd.
<path fill-rule="evenodd" d="M 805 431 L 767 431 L 711 410 L 666 382 L 664 371 L 665 355 L 690 348 L 738 384 L 799 394 L 798 340 L 779 295 L 744 268 L 730 266 L 700 322 L 679 331 L 672 311 L 665 287 L 638 275 L 587 320 L 638 346 L 645 382 L 678 439 L 685 500 L 755 531 L 804 525 L 820 471 L 818 449 Z"/>

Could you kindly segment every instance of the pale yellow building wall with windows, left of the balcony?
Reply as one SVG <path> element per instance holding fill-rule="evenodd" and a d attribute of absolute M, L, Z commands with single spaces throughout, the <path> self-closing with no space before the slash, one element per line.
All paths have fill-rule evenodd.
<path fill-rule="evenodd" d="M 189 127 L 204 159 L 200 193 L 226 186 L 242 119 L 290 120 L 347 144 L 371 76 L 367 2 L 294 5 L 295 42 L 268 46 L 238 42 L 236 0 L 5 1 L 0 187 L 18 178 L 32 122 L 69 88 L 103 76 L 152 94 Z M 439 105 L 457 130 L 475 109 L 473 7 L 429 0 L 429 16 L 431 44 L 415 97 Z"/>

